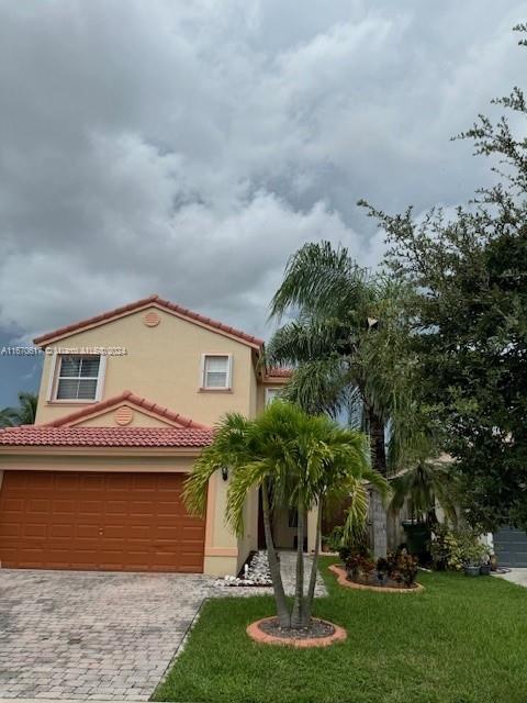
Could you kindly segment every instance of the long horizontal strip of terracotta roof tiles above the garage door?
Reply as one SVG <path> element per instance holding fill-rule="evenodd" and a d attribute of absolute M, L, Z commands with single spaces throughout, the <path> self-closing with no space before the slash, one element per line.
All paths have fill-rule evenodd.
<path fill-rule="evenodd" d="M 194 427 L 51 427 L 0 429 L 0 445 L 46 447 L 206 447 L 212 429 Z"/>

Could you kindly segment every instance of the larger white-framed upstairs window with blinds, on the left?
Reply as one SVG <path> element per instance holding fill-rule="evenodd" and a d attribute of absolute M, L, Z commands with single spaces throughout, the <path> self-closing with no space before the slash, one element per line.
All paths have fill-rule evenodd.
<path fill-rule="evenodd" d="M 102 372 L 98 355 L 57 357 L 54 400 L 98 400 Z"/>

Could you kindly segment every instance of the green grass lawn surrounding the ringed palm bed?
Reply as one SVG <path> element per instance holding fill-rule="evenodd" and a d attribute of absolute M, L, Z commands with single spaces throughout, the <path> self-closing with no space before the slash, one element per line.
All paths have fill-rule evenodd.
<path fill-rule="evenodd" d="M 334 559 L 333 559 L 334 561 Z M 424 593 L 338 587 L 315 615 L 346 627 L 346 643 L 299 650 L 257 645 L 267 596 L 205 603 L 156 701 L 206 703 L 525 703 L 527 590 L 501 579 L 424 573 Z"/>

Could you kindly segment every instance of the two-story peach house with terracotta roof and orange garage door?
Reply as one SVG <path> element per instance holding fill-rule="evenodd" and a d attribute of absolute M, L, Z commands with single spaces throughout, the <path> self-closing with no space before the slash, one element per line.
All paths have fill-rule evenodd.
<path fill-rule="evenodd" d="M 210 481 L 204 521 L 181 491 L 222 415 L 255 416 L 288 381 L 261 368 L 264 342 L 153 295 L 35 344 L 36 424 L 0 432 L 1 566 L 236 573 L 261 545 L 258 494 L 236 538 L 228 470 Z M 278 511 L 279 547 L 294 546 L 294 523 Z"/>

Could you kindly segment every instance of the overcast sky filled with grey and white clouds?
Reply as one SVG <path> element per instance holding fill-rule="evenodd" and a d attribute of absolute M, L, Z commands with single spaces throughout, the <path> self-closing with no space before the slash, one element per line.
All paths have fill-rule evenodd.
<path fill-rule="evenodd" d="M 515 0 L 0 0 L 0 350 L 152 293 L 267 337 L 288 257 L 378 265 L 357 200 L 467 202 Z M 525 49 L 524 49 L 525 51 Z M 0 408 L 40 361 L 0 355 Z"/>

